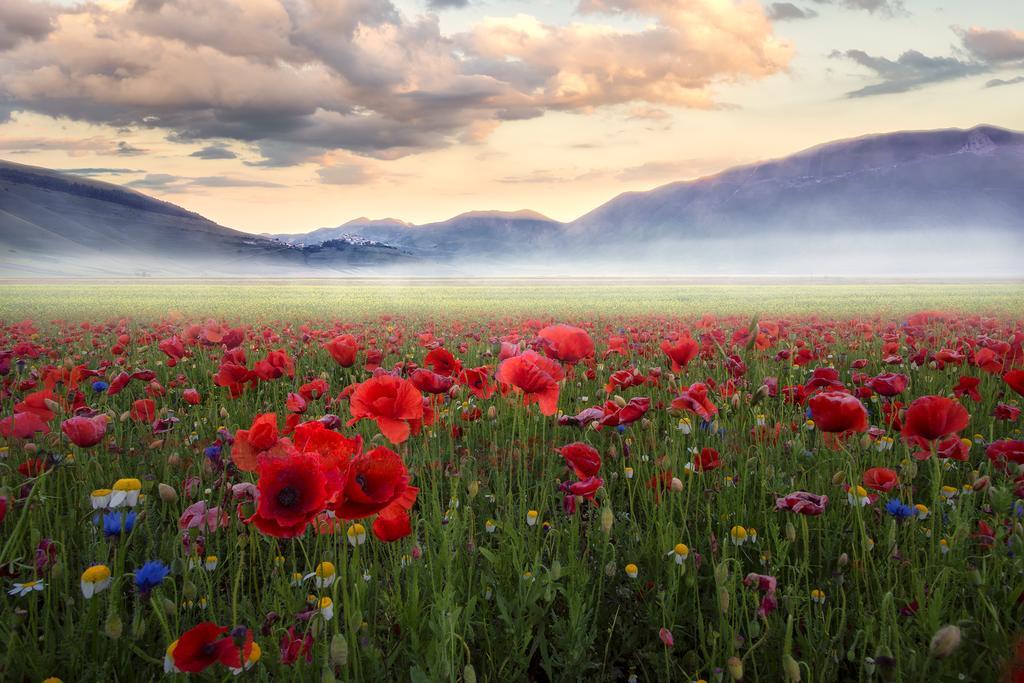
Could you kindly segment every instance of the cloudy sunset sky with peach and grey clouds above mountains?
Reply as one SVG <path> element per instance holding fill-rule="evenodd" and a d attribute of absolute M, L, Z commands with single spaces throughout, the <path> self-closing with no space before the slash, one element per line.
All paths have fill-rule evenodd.
<path fill-rule="evenodd" d="M 979 123 L 1024 130 L 1022 0 L 0 0 L 0 159 L 254 232 Z"/>

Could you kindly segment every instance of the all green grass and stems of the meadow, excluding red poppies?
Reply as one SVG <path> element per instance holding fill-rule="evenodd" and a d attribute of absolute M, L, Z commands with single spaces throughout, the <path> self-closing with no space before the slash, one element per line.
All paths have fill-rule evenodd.
<path fill-rule="evenodd" d="M 81 385 L 84 400 L 112 417 L 102 443 L 78 449 L 61 437 L 66 403 L 58 405 L 50 434 L 6 443 L 0 459 L 0 495 L 9 503 L 0 522 L 4 589 L 35 575 L 42 540 L 54 542 L 56 559 L 40 573 L 43 591 L 0 594 L 0 640 L 6 648 L 0 678 L 166 679 L 167 646 L 200 622 L 212 621 L 254 631 L 263 656 L 242 678 L 259 681 L 623 681 L 631 675 L 641 681 L 728 681 L 730 659 L 741 663 L 743 680 L 780 681 L 786 657 L 798 663 L 803 681 L 998 680 L 1024 618 L 1019 604 L 1024 528 L 1012 476 L 993 469 L 984 451 L 992 440 L 1021 438 L 1019 419 L 992 417 L 997 403 L 1019 407 L 1021 398 L 998 374 L 970 360 L 945 368 L 892 366 L 882 361 L 882 347 L 889 326 L 904 356 L 911 354 L 911 344 L 970 354 L 967 342 L 976 346 L 981 334 L 1010 341 L 1024 329 L 1021 293 L 1018 285 L 4 287 L 0 350 L 28 342 L 42 352 L 23 356 L 24 364 L 13 364 L 2 378 L 0 416 L 10 415 L 38 388 L 32 382 L 46 367 L 100 368 L 120 357 L 105 378 L 122 369 L 153 369 L 167 390 L 155 399 L 158 410 L 181 422 L 154 435 L 147 424 L 125 417 L 132 401 L 146 395 L 145 383 L 133 382 L 109 396 L 92 392 L 88 380 Z M 968 315 L 932 322 L 920 333 L 899 327 L 907 312 L 921 309 L 985 312 L 999 319 L 984 329 Z M 295 378 L 261 382 L 231 399 L 212 382 L 222 349 L 193 346 L 189 357 L 168 367 L 156 342 L 180 333 L 186 322 L 167 323 L 170 310 L 186 318 L 251 325 L 244 344 L 249 366 L 285 348 L 295 359 Z M 296 540 L 263 536 L 238 521 L 230 498 L 229 484 L 255 476 L 217 471 L 204 456 L 218 427 L 233 433 L 268 411 L 278 412 L 283 424 L 288 393 L 309 379 L 324 377 L 330 395 L 337 396 L 369 377 L 362 352 L 354 368 L 343 369 L 321 347 L 338 331 L 335 323 L 353 324 L 351 332 L 365 346 L 385 347 L 391 339 L 386 368 L 403 360 L 422 364 L 427 351 L 417 334 L 426 330 L 445 338 L 446 347 L 474 367 L 497 362 L 499 337 L 531 338 L 532 329 L 517 322 L 524 317 L 594 323 L 593 378 L 584 365 L 561 384 L 559 410 L 575 414 L 605 400 L 603 385 L 613 370 L 667 369 L 659 341 L 683 327 L 697 334 L 694 323 L 706 312 L 721 316 L 723 348 L 748 366 L 733 396 L 714 394 L 721 431 L 700 429 L 694 418 L 686 434 L 678 428 L 679 417 L 666 409 L 680 386 L 709 378 L 727 382 L 729 373 L 714 345 L 678 378 L 663 376 L 656 385 L 620 391 L 626 398 L 652 400 L 645 419 L 623 433 L 558 426 L 536 405 L 524 408 L 515 393 L 478 399 L 457 392 L 436 405 L 433 426 L 392 446 L 420 495 L 412 510 L 413 535 L 391 544 L 370 536 L 353 548 L 343 532 L 311 530 Z M 771 340 L 764 350 L 742 339 L 730 341 L 749 328 L 752 313 L 794 318 L 792 334 Z M 86 331 L 45 322 L 122 316 L 132 318 L 124 329 L 114 323 Z M 844 323 L 849 317 L 870 317 L 870 334 Z M 25 318 L 35 319 L 38 330 L 12 325 Z M 310 321 L 322 321 L 312 327 L 324 331 L 323 338 L 304 341 L 299 325 Z M 275 336 L 265 338 L 264 329 Z M 629 354 L 603 358 L 609 336 L 620 329 L 637 335 Z M 116 356 L 112 347 L 122 333 L 132 341 Z M 798 340 L 817 349 L 819 357 L 800 368 L 776 358 Z M 466 347 L 459 349 L 460 343 Z M 892 451 L 879 451 L 862 437 L 835 447 L 806 427 L 804 407 L 756 392 L 766 377 L 776 377 L 780 387 L 802 384 L 811 369 L 824 366 L 835 367 L 852 387 L 856 358 L 868 359 L 858 373 L 906 374 L 910 384 L 900 400 L 907 403 L 922 395 L 948 395 L 961 376 L 979 378 L 981 400 L 963 399 L 971 413 L 962 433 L 972 439 L 969 460 L 919 462 L 891 429 L 886 433 L 895 437 Z M 186 387 L 199 389 L 199 405 L 183 402 Z M 58 387 L 61 395 L 66 390 Z M 864 402 L 871 424 L 884 425 L 883 401 Z M 482 417 L 464 421 L 462 412 L 472 408 Z M 319 399 L 304 419 L 327 413 L 346 420 L 348 404 Z M 759 420 L 778 425 L 780 437 L 755 438 Z M 368 447 L 389 445 L 367 421 L 342 431 L 360 434 Z M 604 485 L 596 504 L 584 502 L 577 514 L 566 515 L 558 484 L 574 477 L 555 449 L 575 440 L 601 453 Z M 705 446 L 721 453 L 722 468 L 688 474 L 691 450 Z M 33 458 L 54 466 L 26 476 L 18 467 Z M 898 471 L 900 486 L 873 506 L 848 505 L 843 484 L 859 482 L 876 466 Z M 680 490 L 655 493 L 649 482 L 666 472 L 680 479 Z M 985 475 L 992 477 L 989 490 L 963 490 Z M 121 477 L 142 480 L 140 516 L 130 535 L 105 539 L 92 521 L 89 493 Z M 177 500 L 162 501 L 158 483 L 170 485 Z M 947 503 L 942 485 L 962 493 Z M 802 517 L 776 511 L 775 498 L 795 489 L 827 495 L 825 513 Z M 884 512 L 889 499 L 924 504 L 931 514 L 897 521 Z M 222 506 L 231 519 L 227 528 L 203 539 L 204 555 L 219 558 L 213 570 L 189 566 L 184 541 L 195 548 L 200 539 L 178 528 L 182 510 L 198 500 Z M 540 513 L 536 526 L 526 524 L 528 510 Z M 497 521 L 494 533 L 485 529 L 488 519 Z M 995 529 L 989 547 L 974 537 L 982 521 Z M 365 523 L 369 530 L 370 520 Z M 757 542 L 730 543 L 734 525 L 757 529 Z M 943 539 L 948 553 L 942 552 Z M 670 556 L 678 543 L 690 551 L 682 564 Z M 166 562 L 171 574 L 142 598 L 133 572 L 153 559 Z M 292 572 L 311 572 L 323 560 L 338 567 L 333 586 L 291 585 Z M 85 600 L 79 579 L 97 562 L 112 568 L 115 584 Z M 636 579 L 627 575 L 628 563 L 637 565 Z M 763 594 L 743 584 L 751 572 L 778 581 L 778 608 L 767 616 L 758 614 Z M 812 600 L 814 590 L 823 591 L 823 604 Z M 333 620 L 300 618 L 309 594 L 333 599 Z M 930 655 L 929 643 L 944 625 L 956 625 L 964 642 L 939 659 Z M 309 663 L 282 661 L 279 645 L 289 627 L 314 637 Z M 672 632 L 674 647 L 659 640 L 663 628 Z M 201 678 L 232 679 L 219 665 Z"/>

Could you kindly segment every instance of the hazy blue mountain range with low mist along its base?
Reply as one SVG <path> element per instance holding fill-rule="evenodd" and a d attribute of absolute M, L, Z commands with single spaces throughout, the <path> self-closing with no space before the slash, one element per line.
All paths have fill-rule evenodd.
<path fill-rule="evenodd" d="M 0 162 L 13 275 L 1024 275 L 1024 134 L 898 132 L 649 191 L 570 222 L 472 211 L 252 234 L 132 189 Z"/>

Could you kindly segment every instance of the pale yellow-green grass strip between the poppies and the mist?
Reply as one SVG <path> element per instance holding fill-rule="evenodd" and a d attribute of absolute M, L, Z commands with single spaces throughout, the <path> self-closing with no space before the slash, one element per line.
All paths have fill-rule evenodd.
<path fill-rule="evenodd" d="M 707 285 L 662 284 L 180 284 L 68 283 L 0 286 L 0 317 L 82 318 L 169 311 L 227 319 L 333 319 L 393 315 L 445 317 L 529 314 L 714 312 L 764 315 L 905 314 L 921 309 L 1020 312 L 1024 284 Z"/>

